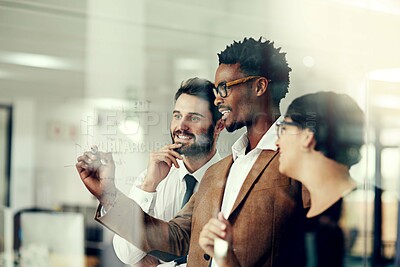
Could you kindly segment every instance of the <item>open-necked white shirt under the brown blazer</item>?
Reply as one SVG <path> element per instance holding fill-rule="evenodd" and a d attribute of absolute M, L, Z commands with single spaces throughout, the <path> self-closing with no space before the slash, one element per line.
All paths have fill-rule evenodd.
<path fill-rule="evenodd" d="M 274 123 L 263 135 L 257 146 L 246 154 L 246 148 L 249 143 L 247 132 L 242 134 L 232 146 L 233 164 L 229 170 L 226 181 L 224 198 L 222 199 L 221 211 L 225 218 L 228 218 L 236 198 L 239 195 L 240 188 L 246 180 L 251 168 L 256 162 L 258 156 L 263 150 L 276 150 L 276 124 Z M 212 261 L 212 267 L 218 267 L 215 261 Z"/>

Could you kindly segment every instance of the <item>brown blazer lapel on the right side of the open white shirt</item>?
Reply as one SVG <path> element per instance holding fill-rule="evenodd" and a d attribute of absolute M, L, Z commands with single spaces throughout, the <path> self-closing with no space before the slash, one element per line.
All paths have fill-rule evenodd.
<path fill-rule="evenodd" d="M 268 166 L 271 162 L 273 157 L 278 153 L 278 151 L 274 150 L 263 150 L 261 154 L 258 156 L 256 162 L 251 167 L 249 174 L 247 175 L 246 179 L 242 187 L 240 188 L 238 197 L 236 198 L 235 204 L 229 214 L 229 216 L 236 210 L 239 204 L 243 201 L 247 193 L 249 192 L 250 188 L 253 186 L 254 182 L 257 180 L 260 173 Z"/>

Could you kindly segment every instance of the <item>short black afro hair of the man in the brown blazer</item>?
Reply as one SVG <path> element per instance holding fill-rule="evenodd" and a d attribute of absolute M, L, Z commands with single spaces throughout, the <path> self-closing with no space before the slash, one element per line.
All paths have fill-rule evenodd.
<path fill-rule="evenodd" d="M 286 60 L 286 53 L 275 48 L 274 43 L 262 37 L 257 41 L 244 38 L 226 47 L 218 54 L 219 64 L 240 64 L 241 71 L 248 76 L 263 76 L 270 80 L 268 90 L 272 102 L 279 108 L 281 99 L 286 96 L 289 87 L 289 72 L 292 70 Z"/>

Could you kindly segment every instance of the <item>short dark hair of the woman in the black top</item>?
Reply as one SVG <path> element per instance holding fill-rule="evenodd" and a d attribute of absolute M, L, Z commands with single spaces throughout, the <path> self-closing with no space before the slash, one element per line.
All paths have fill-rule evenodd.
<path fill-rule="evenodd" d="M 314 133 L 315 150 L 347 166 L 360 161 L 364 144 L 364 113 L 345 94 L 318 92 L 296 98 L 285 117 Z"/>

